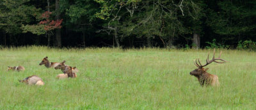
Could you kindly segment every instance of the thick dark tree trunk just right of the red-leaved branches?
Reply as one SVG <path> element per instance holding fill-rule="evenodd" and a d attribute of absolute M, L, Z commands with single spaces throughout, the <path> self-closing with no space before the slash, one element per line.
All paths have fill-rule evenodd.
<path fill-rule="evenodd" d="M 60 3 L 60 0 L 55 1 L 56 20 L 60 19 L 60 12 L 59 12 L 60 4 L 59 3 Z M 60 47 L 61 46 L 61 31 L 60 31 L 60 29 L 56 29 L 56 41 L 57 41 L 57 46 Z"/>

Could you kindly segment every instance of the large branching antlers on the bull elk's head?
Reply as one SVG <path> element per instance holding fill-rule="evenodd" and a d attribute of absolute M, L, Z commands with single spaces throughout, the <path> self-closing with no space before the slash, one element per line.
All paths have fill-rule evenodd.
<path fill-rule="evenodd" d="M 222 53 L 222 52 L 220 52 L 220 56 L 221 56 L 221 53 Z M 197 64 L 196 66 L 197 66 L 197 67 L 198 67 L 198 66 L 199 66 L 199 67 L 205 67 L 206 65 L 209 65 L 209 64 L 211 64 L 212 62 L 216 62 L 216 63 L 219 63 L 219 64 L 223 64 L 223 63 L 225 63 L 225 62 L 228 62 L 228 61 L 226 61 L 226 60 L 221 59 L 220 56 L 219 56 L 218 58 L 214 58 L 214 55 L 215 55 L 215 48 L 214 48 L 212 60 L 209 60 L 209 53 L 208 53 L 208 56 L 207 56 L 207 59 L 206 59 L 206 64 L 205 64 L 205 65 L 202 65 L 201 62 L 200 62 L 200 60 L 199 60 L 199 58 L 198 58 L 198 62 L 199 62 L 200 65 L 198 65 L 197 62 L 196 62 L 196 64 Z M 221 60 L 221 61 L 223 61 L 223 62 L 218 62 L 218 61 L 216 61 L 216 60 Z M 194 63 L 195 63 L 195 62 L 194 62 Z"/>

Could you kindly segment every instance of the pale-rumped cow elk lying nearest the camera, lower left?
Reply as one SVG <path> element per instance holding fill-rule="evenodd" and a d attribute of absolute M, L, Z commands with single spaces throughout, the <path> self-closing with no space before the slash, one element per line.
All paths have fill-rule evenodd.
<path fill-rule="evenodd" d="M 44 81 L 36 75 L 28 76 L 23 80 L 19 80 L 19 82 L 26 83 L 28 85 L 38 85 L 38 86 L 44 85 Z"/>

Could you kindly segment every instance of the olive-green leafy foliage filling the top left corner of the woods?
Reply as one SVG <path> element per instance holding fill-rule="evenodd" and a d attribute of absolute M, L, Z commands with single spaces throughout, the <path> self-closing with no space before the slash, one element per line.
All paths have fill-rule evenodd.
<path fill-rule="evenodd" d="M 29 0 L 1 0 L 0 1 L 0 29 L 8 34 L 19 34 L 22 24 L 29 24 L 38 15 L 35 6 L 28 6 Z"/>

